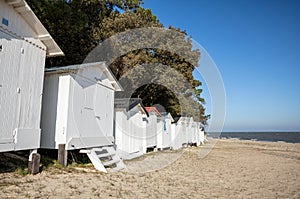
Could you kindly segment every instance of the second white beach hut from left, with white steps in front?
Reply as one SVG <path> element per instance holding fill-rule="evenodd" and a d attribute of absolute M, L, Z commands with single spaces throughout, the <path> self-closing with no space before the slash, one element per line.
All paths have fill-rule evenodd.
<path fill-rule="evenodd" d="M 98 170 L 121 168 L 113 147 L 115 91 L 121 87 L 104 62 L 46 69 L 41 148 L 59 149 L 64 165 L 68 150 L 86 149 Z"/>

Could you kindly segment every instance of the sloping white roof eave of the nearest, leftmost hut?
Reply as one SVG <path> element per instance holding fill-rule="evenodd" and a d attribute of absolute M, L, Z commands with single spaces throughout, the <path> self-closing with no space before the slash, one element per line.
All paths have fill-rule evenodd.
<path fill-rule="evenodd" d="M 26 23 L 36 32 L 37 39 L 40 39 L 41 42 L 47 47 L 47 57 L 64 55 L 60 47 L 54 41 L 52 36 L 49 34 L 25 0 L 6 0 L 6 3 L 11 5 L 14 10 L 21 15 Z"/>

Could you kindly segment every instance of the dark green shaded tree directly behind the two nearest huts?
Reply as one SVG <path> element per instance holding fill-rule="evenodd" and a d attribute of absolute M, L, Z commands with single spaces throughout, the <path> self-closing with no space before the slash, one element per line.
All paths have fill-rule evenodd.
<path fill-rule="evenodd" d="M 105 35 L 101 34 L 101 21 L 116 9 L 133 10 L 138 0 L 27 0 L 43 22 L 64 57 L 47 59 L 46 66 L 80 64 Z"/>

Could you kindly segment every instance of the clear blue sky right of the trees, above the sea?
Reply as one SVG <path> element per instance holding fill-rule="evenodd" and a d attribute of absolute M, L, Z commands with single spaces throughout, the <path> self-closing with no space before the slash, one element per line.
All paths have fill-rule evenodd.
<path fill-rule="evenodd" d="M 224 131 L 300 131 L 299 0 L 144 0 L 143 7 L 185 29 L 216 63 Z"/>

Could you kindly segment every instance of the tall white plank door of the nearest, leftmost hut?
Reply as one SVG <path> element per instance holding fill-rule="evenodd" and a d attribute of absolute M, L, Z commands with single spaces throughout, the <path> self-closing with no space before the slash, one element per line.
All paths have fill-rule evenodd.
<path fill-rule="evenodd" d="M 6 39 L 4 34 L 0 34 L 0 144 L 13 142 L 20 110 L 18 79 L 22 41 Z"/>

